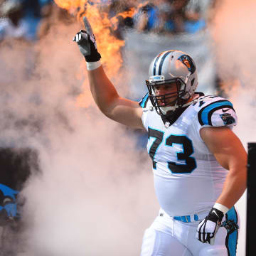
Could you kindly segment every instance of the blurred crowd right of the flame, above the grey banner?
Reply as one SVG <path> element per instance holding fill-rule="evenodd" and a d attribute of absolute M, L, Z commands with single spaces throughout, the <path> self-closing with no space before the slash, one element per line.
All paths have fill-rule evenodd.
<path fill-rule="evenodd" d="M 214 0 L 149 0 L 128 1 L 127 5 L 114 1 L 110 14 L 137 9 L 132 18 L 125 18 L 121 26 L 131 26 L 139 32 L 165 33 L 196 33 L 206 28 L 210 18 L 209 10 L 214 6 Z M 122 8 L 120 8 L 122 7 Z M 121 10 L 120 10 L 121 9 Z"/>

